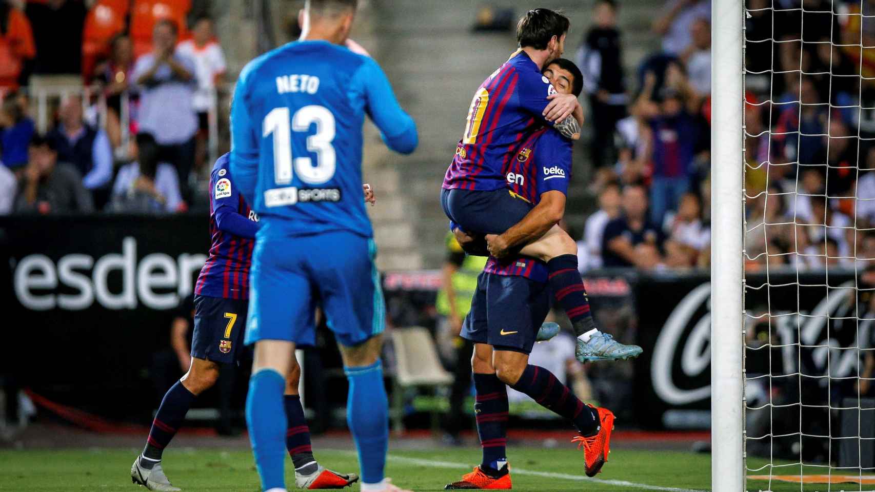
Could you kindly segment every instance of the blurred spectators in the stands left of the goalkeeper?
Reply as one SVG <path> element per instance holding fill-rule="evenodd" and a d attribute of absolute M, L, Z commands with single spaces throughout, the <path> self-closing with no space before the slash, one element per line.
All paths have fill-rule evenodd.
<path fill-rule="evenodd" d="M 210 8 L 0 0 L 0 214 L 197 206 L 225 72 Z"/>

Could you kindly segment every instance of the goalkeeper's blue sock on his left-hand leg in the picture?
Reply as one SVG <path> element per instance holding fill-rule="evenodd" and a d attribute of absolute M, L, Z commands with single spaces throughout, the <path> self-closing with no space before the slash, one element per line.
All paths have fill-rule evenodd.
<path fill-rule="evenodd" d="M 246 424 L 262 490 L 285 489 L 284 391 L 285 378 L 272 369 L 262 369 L 249 378 Z"/>

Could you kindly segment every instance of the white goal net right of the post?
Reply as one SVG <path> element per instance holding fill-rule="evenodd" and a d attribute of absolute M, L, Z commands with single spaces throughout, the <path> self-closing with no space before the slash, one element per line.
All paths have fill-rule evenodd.
<path fill-rule="evenodd" d="M 875 1 L 744 17 L 746 489 L 875 490 Z"/>

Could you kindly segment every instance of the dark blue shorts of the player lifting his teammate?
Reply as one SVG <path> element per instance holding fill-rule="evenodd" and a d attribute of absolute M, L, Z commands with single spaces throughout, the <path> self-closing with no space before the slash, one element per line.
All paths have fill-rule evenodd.
<path fill-rule="evenodd" d="M 531 353 L 550 299 L 546 283 L 482 272 L 461 335 L 495 350 Z"/>

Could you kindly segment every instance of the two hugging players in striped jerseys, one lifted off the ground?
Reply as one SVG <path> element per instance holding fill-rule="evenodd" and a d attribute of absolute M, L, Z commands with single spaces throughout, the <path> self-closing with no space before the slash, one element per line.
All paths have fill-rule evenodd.
<path fill-rule="evenodd" d="M 577 246 L 558 225 L 579 137 L 580 71 L 561 59 L 567 17 L 529 10 L 520 49 L 474 94 L 465 132 L 446 171 L 441 204 L 465 251 L 490 255 L 462 336 L 474 343 L 474 412 L 483 459 L 446 489 L 510 489 L 506 386 L 577 427 L 586 475 L 607 461 L 613 413 L 584 405 L 546 369 L 528 364 L 551 297 L 577 335 L 581 362 L 637 357 L 641 347 L 601 333 L 577 273 Z"/>

